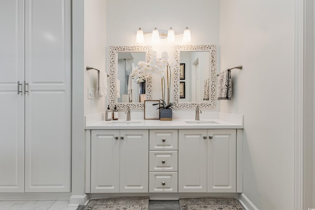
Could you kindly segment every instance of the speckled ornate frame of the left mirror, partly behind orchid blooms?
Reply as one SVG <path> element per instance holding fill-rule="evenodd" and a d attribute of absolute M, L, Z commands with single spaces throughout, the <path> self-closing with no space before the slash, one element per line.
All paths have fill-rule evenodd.
<path fill-rule="evenodd" d="M 127 106 L 130 109 L 144 109 L 144 102 L 127 102 L 127 103 L 118 103 L 116 102 L 116 89 L 115 89 L 115 81 L 116 81 L 116 68 L 118 57 L 117 53 L 119 52 L 130 52 L 130 53 L 146 53 L 146 62 L 150 61 L 152 57 L 152 47 L 151 46 L 109 46 L 109 68 L 110 68 L 110 100 L 109 106 L 114 108 L 116 105 L 117 109 L 127 109 Z M 116 64 L 115 64 L 116 63 Z M 152 97 L 152 76 L 149 76 L 146 79 L 146 100 L 151 100 Z"/>

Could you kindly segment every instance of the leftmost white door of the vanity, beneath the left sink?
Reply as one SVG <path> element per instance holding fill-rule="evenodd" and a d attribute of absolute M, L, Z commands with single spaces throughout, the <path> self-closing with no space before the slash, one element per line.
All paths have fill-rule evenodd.
<path fill-rule="evenodd" d="M 91 193 L 119 192 L 119 145 L 119 130 L 92 130 Z"/>

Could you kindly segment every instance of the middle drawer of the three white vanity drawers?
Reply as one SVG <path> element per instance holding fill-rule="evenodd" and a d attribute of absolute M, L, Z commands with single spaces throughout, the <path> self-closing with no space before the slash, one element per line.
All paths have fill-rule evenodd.
<path fill-rule="evenodd" d="M 150 151 L 149 171 L 177 171 L 177 151 Z"/>

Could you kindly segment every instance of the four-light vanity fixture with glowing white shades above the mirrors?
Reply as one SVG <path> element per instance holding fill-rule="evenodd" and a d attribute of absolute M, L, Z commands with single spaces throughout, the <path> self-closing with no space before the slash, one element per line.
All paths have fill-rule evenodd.
<path fill-rule="evenodd" d="M 184 30 L 183 33 L 176 33 L 172 28 L 170 28 L 168 31 L 166 30 L 158 30 L 157 28 L 154 28 L 152 32 L 143 32 L 141 28 L 137 30 L 137 36 L 136 36 L 136 42 L 137 43 L 143 43 L 144 42 L 144 34 L 152 34 L 152 43 L 158 43 L 160 38 L 167 38 L 168 42 L 174 42 L 175 41 L 175 35 L 183 34 L 183 42 L 187 43 L 190 42 L 190 30 L 188 27 Z"/>

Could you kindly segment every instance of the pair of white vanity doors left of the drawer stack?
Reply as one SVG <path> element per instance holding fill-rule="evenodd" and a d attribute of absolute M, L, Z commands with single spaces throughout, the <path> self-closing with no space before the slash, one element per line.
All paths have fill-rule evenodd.
<path fill-rule="evenodd" d="M 92 130 L 91 193 L 148 192 L 149 130 Z"/>

